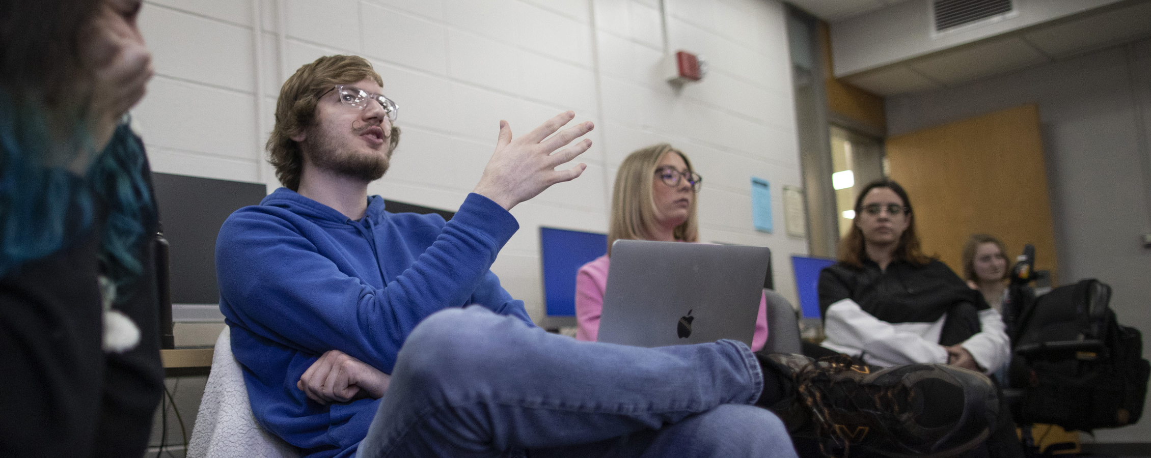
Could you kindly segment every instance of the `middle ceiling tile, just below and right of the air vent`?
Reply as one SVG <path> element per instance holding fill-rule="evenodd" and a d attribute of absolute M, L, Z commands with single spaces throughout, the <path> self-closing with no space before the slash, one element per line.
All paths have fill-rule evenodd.
<path fill-rule="evenodd" d="M 1019 38 L 1003 38 L 916 60 L 908 66 L 931 79 L 954 86 L 1046 62 L 1049 59 Z"/>

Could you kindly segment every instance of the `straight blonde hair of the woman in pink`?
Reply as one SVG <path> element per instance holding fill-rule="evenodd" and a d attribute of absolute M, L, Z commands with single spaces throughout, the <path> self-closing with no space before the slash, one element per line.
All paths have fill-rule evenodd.
<path fill-rule="evenodd" d="M 679 154 L 687 165 L 688 171 L 694 171 L 692 161 L 683 151 L 666 143 L 651 145 L 633 151 L 619 165 L 616 173 L 616 186 L 611 196 L 611 224 L 608 228 L 608 255 L 611 255 L 611 244 L 618 239 L 647 241 L 656 232 L 655 197 L 651 186 L 655 183 L 655 169 L 666 153 Z M 695 216 L 695 200 L 692 199 L 687 220 L 676 227 L 673 236 L 681 242 L 699 242 L 699 226 Z"/>

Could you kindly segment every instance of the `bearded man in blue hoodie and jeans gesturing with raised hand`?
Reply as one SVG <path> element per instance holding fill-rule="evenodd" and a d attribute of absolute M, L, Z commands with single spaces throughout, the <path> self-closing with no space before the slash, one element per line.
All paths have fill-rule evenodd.
<path fill-rule="evenodd" d="M 535 328 L 489 268 L 518 229 L 508 211 L 584 171 L 555 168 L 590 146 L 572 142 L 592 123 L 561 130 L 574 116 L 566 112 L 513 138 L 501 121 L 495 153 L 451 221 L 389 213 L 367 196 L 399 140 L 381 86 L 357 56 L 297 70 L 268 140 L 284 188 L 234 213 L 218 237 L 220 308 L 252 411 L 308 457 L 794 457 L 763 407 L 811 423 L 798 399 L 818 387 L 828 400 L 816 430 L 905 455 L 966 446 L 955 435 L 867 442 L 869 428 L 939 422 L 910 397 L 922 387 L 909 381 L 932 379 L 924 372 L 935 367 L 863 380 L 866 368 L 753 354 L 732 341 L 640 349 Z M 799 389 L 813 374 L 823 380 Z M 967 376 L 940 374 L 932 380 Z M 832 394 L 841 381 L 867 390 Z M 904 417 L 891 405 L 837 413 L 834 403 L 855 409 L 895 391 Z M 958 396 L 947 432 L 971 429 L 955 419 L 983 412 L 978 398 Z"/>

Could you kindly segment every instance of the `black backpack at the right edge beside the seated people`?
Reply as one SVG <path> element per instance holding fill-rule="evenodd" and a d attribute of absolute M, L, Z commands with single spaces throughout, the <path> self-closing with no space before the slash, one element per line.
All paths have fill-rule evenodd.
<path fill-rule="evenodd" d="M 1016 299 L 1008 379 L 1021 391 L 1017 422 L 1090 432 L 1139 420 L 1151 366 L 1138 329 L 1120 326 L 1110 300 L 1096 280 Z"/>

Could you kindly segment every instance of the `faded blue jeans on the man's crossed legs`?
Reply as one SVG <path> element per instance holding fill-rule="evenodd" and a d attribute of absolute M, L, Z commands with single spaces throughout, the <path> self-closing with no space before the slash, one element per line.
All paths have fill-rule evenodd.
<path fill-rule="evenodd" d="M 742 343 L 579 342 L 482 307 L 412 330 L 358 457 L 795 457 Z"/>

